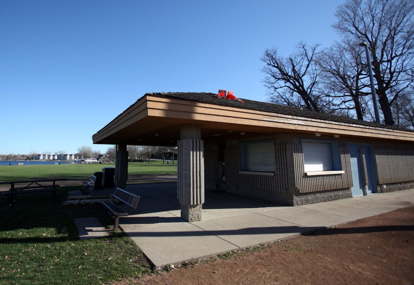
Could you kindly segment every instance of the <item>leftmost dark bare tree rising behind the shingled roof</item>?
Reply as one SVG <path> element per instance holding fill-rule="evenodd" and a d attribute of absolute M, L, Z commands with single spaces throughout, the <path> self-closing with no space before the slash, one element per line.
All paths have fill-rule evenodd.
<path fill-rule="evenodd" d="M 318 89 L 320 70 L 315 58 L 320 53 L 315 44 L 298 43 L 295 53 L 287 58 L 279 56 L 277 48 L 267 49 L 260 58 L 265 63 L 263 80 L 272 103 L 302 107 L 325 112 L 330 104 Z"/>

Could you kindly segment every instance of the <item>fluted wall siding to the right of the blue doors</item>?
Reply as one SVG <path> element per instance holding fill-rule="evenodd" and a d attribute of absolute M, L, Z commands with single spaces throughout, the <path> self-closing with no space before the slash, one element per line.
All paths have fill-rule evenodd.
<path fill-rule="evenodd" d="M 414 181 L 414 151 L 373 149 L 378 183 Z"/>

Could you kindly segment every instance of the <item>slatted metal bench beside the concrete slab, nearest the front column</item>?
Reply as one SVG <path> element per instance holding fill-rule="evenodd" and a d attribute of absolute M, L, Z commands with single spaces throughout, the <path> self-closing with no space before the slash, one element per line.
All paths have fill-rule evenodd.
<path fill-rule="evenodd" d="M 125 191 L 121 188 L 116 188 L 113 198 L 116 198 L 119 202 L 127 205 L 129 210 L 123 210 L 113 202 L 101 201 L 101 204 L 105 206 L 105 218 L 108 213 L 111 213 L 111 217 L 115 218 L 115 229 L 119 228 L 119 217 L 128 216 L 132 209 L 136 209 L 140 196 Z M 126 208 L 126 207 L 123 207 Z"/>

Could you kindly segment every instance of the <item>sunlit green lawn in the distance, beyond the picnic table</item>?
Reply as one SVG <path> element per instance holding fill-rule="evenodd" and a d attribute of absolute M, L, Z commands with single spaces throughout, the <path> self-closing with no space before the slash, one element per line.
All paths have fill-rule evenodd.
<path fill-rule="evenodd" d="M 115 167 L 115 164 L 5 165 L 0 166 L 0 182 L 55 177 L 87 180 L 93 172 L 102 171 L 102 167 Z M 128 174 L 177 174 L 177 164 L 157 160 L 128 163 Z"/>

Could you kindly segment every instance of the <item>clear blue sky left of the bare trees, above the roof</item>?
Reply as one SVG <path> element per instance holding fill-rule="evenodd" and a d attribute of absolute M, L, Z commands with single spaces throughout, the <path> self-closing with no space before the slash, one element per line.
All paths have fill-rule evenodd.
<path fill-rule="evenodd" d="M 267 101 L 260 57 L 330 46 L 337 0 L 0 1 L 0 154 L 93 145 L 147 92 Z"/>

